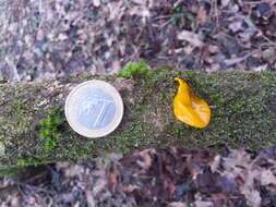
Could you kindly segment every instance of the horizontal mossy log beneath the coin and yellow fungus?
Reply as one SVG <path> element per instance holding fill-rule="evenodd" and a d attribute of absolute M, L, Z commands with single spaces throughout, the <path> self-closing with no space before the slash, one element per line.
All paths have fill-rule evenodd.
<path fill-rule="evenodd" d="M 185 80 L 211 106 L 205 129 L 178 121 L 172 100 L 173 77 Z M 70 90 L 87 80 L 104 80 L 120 92 L 124 117 L 119 127 L 104 138 L 76 134 L 64 118 Z M 52 111 L 56 111 L 55 113 Z M 62 119 L 50 129 L 47 146 L 41 120 Z M 48 132 L 49 133 L 49 132 Z M 0 142 L 2 168 L 75 160 L 111 151 L 149 147 L 215 148 L 227 145 L 259 150 L 276 143 L 276 73 L 273 72 L 169 72 L 154 71 L 129 78 L 117 76 L 70 77 L 43 83 L 0 85 Z"/>

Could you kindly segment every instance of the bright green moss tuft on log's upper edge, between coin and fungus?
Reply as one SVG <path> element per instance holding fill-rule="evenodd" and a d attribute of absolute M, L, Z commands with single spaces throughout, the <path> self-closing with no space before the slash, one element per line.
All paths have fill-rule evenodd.
<path fill-rule="evenodd" d="M 148 70 L 147 64 L 144 60 L 140 60 L 139 63 L 129 63 L 122 71 L 119 72 L 118 76 L 131 77 L 135 75 L 149 75 L 152 72 Z"/>

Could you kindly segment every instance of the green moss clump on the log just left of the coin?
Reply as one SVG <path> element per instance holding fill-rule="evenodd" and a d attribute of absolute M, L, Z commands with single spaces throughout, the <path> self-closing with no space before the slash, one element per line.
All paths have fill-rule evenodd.
<path fill-rule="evenodd" d="M 44 149 L 52 150 L 57 147 L 59 139 L 61 138 L 60 127 L 64 120 L 61 118 L 60 108 L 51 109 L 47 118 L 41 120 L 38 125 L 40 126 L 39 136 L 44 139 Z"/>

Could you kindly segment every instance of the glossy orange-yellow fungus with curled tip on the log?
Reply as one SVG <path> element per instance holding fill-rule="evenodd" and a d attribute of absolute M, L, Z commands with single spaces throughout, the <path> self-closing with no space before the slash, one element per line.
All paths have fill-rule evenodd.
<path fill-rule="evenodd" d="M 175 81 L 179 83 L 178 93 L 173 100 L 177 119 L 195 127 L 207 126 L 211 118 L 208 104 L 196 97 L 183 80 L 176 77 Z"/>

